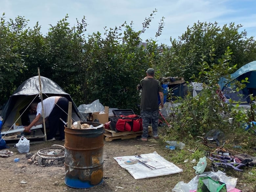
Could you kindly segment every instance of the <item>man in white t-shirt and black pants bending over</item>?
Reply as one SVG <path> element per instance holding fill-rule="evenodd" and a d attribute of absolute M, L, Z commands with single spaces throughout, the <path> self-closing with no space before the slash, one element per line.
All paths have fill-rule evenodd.
<path fill-rule="evenodd" d="M 55 135 L 59 129 L 60 139 L 65 140 L 64 123 L 59 118 L 67 120 L 69 101 L 65 97 L 52 96 L 43 100 L 44 116 L 48 118 L 50 133 L 47 135 L 47 140 L 55 140 Z M 24 132 L 29 132 L 31 127 L 37 124 L 37 121 L 42 116 L 42 103 L 32 103 L 31 110 L 36 111 L 35 119 L 30 123 L 29 126 L 24 127 Z"/>

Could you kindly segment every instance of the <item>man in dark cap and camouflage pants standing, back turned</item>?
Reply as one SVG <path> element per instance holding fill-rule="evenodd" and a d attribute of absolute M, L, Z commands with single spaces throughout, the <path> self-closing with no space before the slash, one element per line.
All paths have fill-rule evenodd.
<path fill-rule="evenodd" d="M 148 125 L 152 123 L 153 137 L 158 137 L 159 105 L 158 94 L 160 96 L 160 105 L 163 108 L 163 90 L 159 80 L 154 79 L 155 70 L 149 68 L 147 76 L 140 81 L 137 89 L 142 89 L 140 102 L 140 116 L 142 117 L 143 132 L 139 141 L 147 141 Z"/>

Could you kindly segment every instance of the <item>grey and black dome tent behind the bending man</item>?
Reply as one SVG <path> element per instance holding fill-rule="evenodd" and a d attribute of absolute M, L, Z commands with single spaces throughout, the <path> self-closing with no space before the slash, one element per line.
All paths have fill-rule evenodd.
<path fill-rule="evenodd" d="M 52 80 L 40 76 L 41 88 L 43 99 L 50 96 L 63 96 L 72 102 L 72 118 L 77 121 L 80 120 L 78 109 L 72 100 L 71 96 L 67 94 L 59 85 Z M 39 77 L 34 76 L 24 81 L 10 96 L 7 103 L 1 112 L 3 117 L 3 126 L 11 127 L 11 125 L 17 121 L 20 125 L 26 125 L 28 114 L 26 114 L 27 106 L 34 100 L 34 102 L 40 102 L 40 87 Z M 21 116 L 21 114 L 24 114 Z M 63 119 L 66 120 L 66 119 Z"/>

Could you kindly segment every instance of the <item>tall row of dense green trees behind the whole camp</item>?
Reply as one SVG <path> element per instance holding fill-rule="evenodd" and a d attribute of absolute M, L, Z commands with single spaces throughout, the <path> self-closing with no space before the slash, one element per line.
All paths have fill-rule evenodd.
<path fill-rule="evenodd" d="M 229 63 L 231 67 L 255 58 L 255 41 L 246 38 L 245 31 L 239 33 L 241 25 L 233 23 L 223 28 L 217 26 L 217 22 L 195 23 L 178 41 L 171 39 L 171 48 L 161 45 L 160 50 L 157 37 L 163 30 L 162 17 L 155 38 L 146 40 L 146 47 L 139 46 L 140 35 L 150 27 L 156 12 L 153 10 L 144 19 L 140 31 L 133 29 L 133 22 L 129 25 L 124 22 L 113 29 L 105 27 L 103 35 L 96 32 L 88 37 L 85 37 L 85 17 L 70 27 L 66 15 L 55 26 L 51 25 L 45 37 L 38 23 L 30 29 L 27 28 L 29 20 L 23 17 L 9 22 L 2 17 L 0 95 L 5 98 L 2 102 L 22 81 L 37 75 L 39 67 L 42 76 L 58 83 L 78 105 L 100 99 L 103 105 L 134 109 L 139 103 L 136 85 L 149 67 L 156 69 L 156 78 L 183 75 L 188 79 L 202 67 L 203 55 L 206 55 L 203 61 L 209 63 L 204 67 L 210 73 L 213 63 L 218 63 L 217 58 L 224 55 L 228 46 L 234 55 Z M 213 48 L 216 57 L 208 56 L 207 50 Z M 11 84 L 9 89 L 3 86 L 7 83 Z"/>

